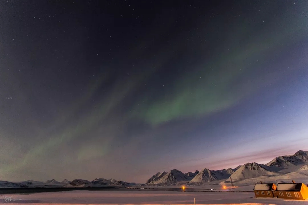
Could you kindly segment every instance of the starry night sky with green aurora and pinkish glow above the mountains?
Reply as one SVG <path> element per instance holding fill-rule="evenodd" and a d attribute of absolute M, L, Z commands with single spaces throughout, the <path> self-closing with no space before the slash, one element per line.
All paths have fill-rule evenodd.
<path fill-rule="evenodd" d="M 308 150 L 308 1 L 0 1 L 0 180 Z"/>

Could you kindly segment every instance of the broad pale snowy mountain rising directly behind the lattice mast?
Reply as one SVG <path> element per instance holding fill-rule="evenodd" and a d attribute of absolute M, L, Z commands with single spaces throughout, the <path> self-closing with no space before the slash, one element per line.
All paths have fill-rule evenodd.
<path fill-rule="evenodd" d="M 254 177 L 263 176 L 263 175 L 276 176 L 279 174 L 277 172 L 271 171 L 271 168 L 266 165 L 257 164 L 255 162 L 252 162 L 252 163 L 246 163 L 240 166 L 227 179 L 227 181 L 231 181 L 230 178 L 232 178 L 233 181 L 239 181 L 239 180 L 254 178 Z"/>

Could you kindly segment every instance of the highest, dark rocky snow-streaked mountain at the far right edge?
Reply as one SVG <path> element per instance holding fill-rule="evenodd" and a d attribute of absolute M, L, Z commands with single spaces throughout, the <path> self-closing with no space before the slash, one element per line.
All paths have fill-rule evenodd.
<path fill-rule="evenodd" d="M 269 163 L 265 164 L 270 167 L 278 167 L 281 169 L 290 168 L 299 164 L 308 163 L 308 151 L 299 150 L 294 155 L 279 156 L 274 158 Z"/>

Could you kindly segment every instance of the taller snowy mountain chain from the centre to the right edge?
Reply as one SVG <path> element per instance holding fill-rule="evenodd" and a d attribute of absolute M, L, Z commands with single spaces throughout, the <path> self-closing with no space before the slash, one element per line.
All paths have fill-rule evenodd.
<path fill-rule="evenodd" d="M 157 176 L 160 172 L 153 175 L 145 184 L 156 184 L 156 185 L 172 185 L 176 182 L 187 182 L 188 184 L 202 184 L 212 181 L 219 181 L 222 179 L 226 179 L 226 182 L 230 181 L 240 181 L 249 178 L 255 178 L 259 176 L 277 176 L 281 175 L 278 171 L 281 170 L 288 170 L 288 168 L 292 168 L 293 166 L 296 167 L 298 165 L 305 165 L 308 164 L 308 151 L 299 150 L 295 152 L 293 155 L 286 155 L 286 156 L 278 156 L 275 157 L 267 164 L 258 164 L 256 162 L 249 162 L 244 165 L 239 165 L 236 168 L 228 168 L 228 169 L 221 169 L 221 170 L 209 170 L 207 168 L 202 169 L 199 173 L 193 177 L 193 179 L 189 180 L 189 177 L 192 177 L 194 174 L 193 172 L 187 172 L 186 178 L 180 177 L 179 179 L 167 180 L 167 179 L 158 179 Z M 307 165 L 308 166 L 308 165 Z M 298 169 L 298 171 L 305 171 L 307 170 L 307 166 L 302 166 L 302 168 Z M 175 170 L 175 169 L 173 169 Z M 290 169 L 291 170 L 291 169 Z M 177 170 L 178 171 L 178 170 Z M 292 171 L 285 171 L 285 173 L 289 173 Z M 166 173 L 166 172 L 164 172 Z M 169 172 L 168 172 L 169 173 Z M 183 172 L 180 172 L 183 173 Z M 173 178 L 175 178 L 173 176 Z"/>

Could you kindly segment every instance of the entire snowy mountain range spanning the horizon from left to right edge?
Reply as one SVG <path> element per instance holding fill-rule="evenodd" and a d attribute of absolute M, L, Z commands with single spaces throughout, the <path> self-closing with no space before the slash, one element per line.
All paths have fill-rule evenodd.
<path fill-rule="evenodd" d="M 209 170 L 207 168 L 201 171 L 183 173 L 177 169 L 169 172 L 157 172 L 144 184 L 129 183 L 118 181 L 115 179 L 95 178 L 92 181 L 85 179 L 74 179 L 68 181 L 64 179 L 62 182 L 55 179 L 40 182 L 35 180 L 27 180 L 22 182 L 0 181 L 0 187 L 99 187 L 99 186 L 136 186 L 136 185 L 176 185 L 176 184 L 203 184 L 213 181 L 225 180 L 223 183 L 231 181 L 237 182 L 246 179 L 258 178 L 261 176 L 282 176 L 288 173 L 294 175 L 299 173 L 305 175 L 308 170 L 308 151 L 298 150 L 293 155 L 284 155 L 275 157 L 269 163 L 258 164 L 249 162 L 239 165 L 236 168 L 228 168 L 221 170 Z M 308 172 L 307 172 L 308 173 Z"/>

